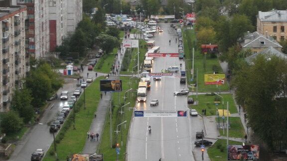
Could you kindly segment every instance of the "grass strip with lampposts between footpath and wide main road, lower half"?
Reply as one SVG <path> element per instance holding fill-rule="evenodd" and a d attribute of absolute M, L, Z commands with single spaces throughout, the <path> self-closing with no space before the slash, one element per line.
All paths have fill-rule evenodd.
<path fill-rule="evenodd" d="M 120 79 L 123 82 L 123 91 L 126 91 L 128 89 L 131 88 L 131 84 L 128 83 L 130 81 L 130 77 L 120 77 Z M 137 89 L 137 85 L 138 85 L 138 80 L 134 79 L 133 80 L 133 86 L 134 89 Z M 133 114 L 133 110 L 130 109 L 129 107 L 135 107 L 135 102 L 136 102 L 136 93 L 134 93 L 134 95 L 132 93 L 130 93 L 130 97 L 128 97 L 128 93 L 126 94 L 127 100 L 124 101 L 124 92 L 120 93 L 120 106 L 119 106 L 119 93 L 114 93 L 113 94 L 113 119 L 112 119 L 112 125 L 113 125 L 113 141 L 112 141 L 112 145 L 116 145 L 116 143 L 120 144 L 120 148 L 121 148 L 121 153 L 119 155 L 119 161 L 125 161 L 125 152 L 126 152 L 126 146 L 127 146 L 127 138 L 128 138 L 128 132 L 129 132 L 129 127 L 130 127 L 130 121 L 131 121 L 131 117 Z M 125 113 L 122 115 L 119 113 L 119 111 L 121 111 L 121 107 L 125 104 L 127 104 L 129 102 L 130 99 L 130 104 L 126 105 L 123 107 L 123 111 L 125 110 Z M 121 131 L 120 133 L 118 133 L 118 139 L 116 137 L 116 133 L 114 131 L 117 130 L 117 125 L 119 125 L 120 123 L 124 122 L 125 120 L 127 120 L 126 123 L 126 129 L 124 128 L 124 124 L 121 126 L 119 126 L 119 131 Z M 123 140 L 122 140 L 123 139 Z M 123 141 L 123 145 L 121 145 L 121 141 Z M 111 148 L 110 145 L 110 122 L 109 122 L 109 116 L 107 115 L 107 120 L 106 120 L 106 124 L 105 124 L 105 128 L 102 134 L 102 138 L 101 138 L 101 144 L 100 147 L 98 149 L 98 153 L 104 154 L 104 158 L 105 161 L 115 161 L 116 160 L 116 150 L 114 148 Z M 108 157 L 105 157 L 108 156 Z"/>

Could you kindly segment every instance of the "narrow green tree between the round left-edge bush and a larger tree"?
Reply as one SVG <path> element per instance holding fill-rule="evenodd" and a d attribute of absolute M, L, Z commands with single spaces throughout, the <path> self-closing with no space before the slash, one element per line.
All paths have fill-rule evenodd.
<path fill-rule="evenodd" d="M 24 123 L 28 123 L 34 116 L 34 109 L 31 105 L 31 92 L 25 86 L 21 89 L 16 88 L 13 91 L 11 100 L 11 109 L 23 118 Z"/>

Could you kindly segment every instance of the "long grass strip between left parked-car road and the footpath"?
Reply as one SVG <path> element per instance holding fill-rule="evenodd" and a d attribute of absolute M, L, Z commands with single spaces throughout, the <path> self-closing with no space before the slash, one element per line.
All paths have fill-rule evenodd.
<path fill-rule="evenodd" d="M 81 95 L 81 97 L 78 99 L 75 106 L 80 106 L 80 111 L 75 114 L 76 130 L 73 130 L 73 125 L 67 127 L 67 131 L 64 132 L 63 139 L 60 140 L 60 143 L 56 144 L 57 154 L 60 161 L 65 161 L 67 156 L 75 153 L 81 153 L 83 151 L 87 138 L 87 131 L 90 129 L 91 122 L 95 117 L 94 112 L 97 110 L 99 100 L 101 99 L 99 89 L 101 79 L 104 78 L 97 78 L 97 80 L 95 80 L 88 88 L 85 89 L 86 109 L 83 108 L 83 95 Z M 66 119 L 64 124 L 67 124 L 68 121 L 72 120 L 72 114 L 73 113 L 69 115 L 69 118 Z M 64 126 L 65 125 L 62 125 L 61 131 L 64 130 Z M 61 131 L 59 132 L 59 135 L 57 135 L 56 140 L 59 138 Z M 53 150 L 54 146 L 52 144 L 43 161 L 55 161 L 55 156 L 50 155 L 50 151 Z"/>

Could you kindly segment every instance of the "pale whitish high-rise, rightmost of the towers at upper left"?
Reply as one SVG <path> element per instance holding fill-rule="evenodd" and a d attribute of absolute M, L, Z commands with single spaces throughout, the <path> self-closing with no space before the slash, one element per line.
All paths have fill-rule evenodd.
<path fill-rule="evenodd" d="M 74 32 L 83 19 L 83 0 L 67 0 L 67 31 Z"/>

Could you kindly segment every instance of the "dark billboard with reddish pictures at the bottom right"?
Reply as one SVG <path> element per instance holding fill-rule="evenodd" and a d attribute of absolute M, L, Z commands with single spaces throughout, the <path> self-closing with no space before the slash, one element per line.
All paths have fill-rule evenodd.
<path fill-rule="evenodd" d="M 259 145 L 228 145 L 228 160 L 259 161 Z"/>

